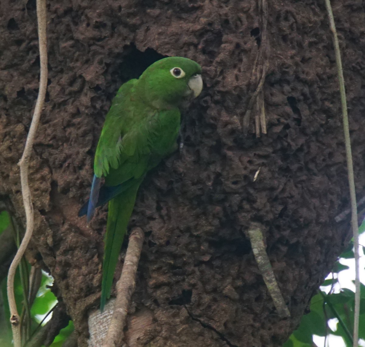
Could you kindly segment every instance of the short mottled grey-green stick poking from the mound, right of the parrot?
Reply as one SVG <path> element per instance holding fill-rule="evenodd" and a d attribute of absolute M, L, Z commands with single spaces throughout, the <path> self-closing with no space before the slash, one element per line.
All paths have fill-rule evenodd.
<path fill-rule="evenodd" d="M 264 278 L 264 282 L 268 288 L 278 314 L 281 317 L 290 317 L 290 312 L 285 304 L 283 295 L 281 295 L 280 288 L 276 282 L 275 275 L 270 264 L 270 259 L 266 253 L 264 236 L 262 235 L 260 226 L 258 224 L 251 225 L 248 230 L 248 235 L 258 268 Z"/>

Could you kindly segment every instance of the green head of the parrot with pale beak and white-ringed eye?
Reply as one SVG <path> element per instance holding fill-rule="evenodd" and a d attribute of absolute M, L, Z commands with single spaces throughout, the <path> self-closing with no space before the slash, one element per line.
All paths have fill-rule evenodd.
<path fill-rule="evenodd" d="M 183 57 L 154 62 L 138 82 L 145 98 L 155 108 L 185 106 L 203 89 L 200 65 Z"/>

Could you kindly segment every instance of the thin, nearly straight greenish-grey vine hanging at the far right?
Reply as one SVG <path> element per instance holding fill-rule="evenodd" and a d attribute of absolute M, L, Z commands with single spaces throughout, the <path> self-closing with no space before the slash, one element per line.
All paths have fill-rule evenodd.
<path fill-rule="evenodd" d="M 359 262 L 360 254 L 359 254 L 359 228 L 358 228 L 358 224 L 357 224 L 357 205 L 356 205 L 356 191 L 355 191 L 355 181 L 354 181 L 354 167 L 353 167 L 352 154 L 351 154 L 349 118 L 347 116 L 345 81 L 343 79 L 341 52 L 340 52 L 340 47 L 338 44 L 335 20 L 333 18 L 333 12 L 332 12 L 332 8 L 331 8 L 330 0 L 325 0 L 325 3 L 326 3 L 327 12 L 328 12 L 328 18 L 330 20 L 330 29 L 333 34 L 333 45 L 335 48 L 338 83 L 339 83 L 340 95 L 341 95 L 343 134 L 345 136 L 347 175 L 348 175 L 348 179 L 349 179 L 349 188 L 350 188 L 351 225 L 352 225 L 352 232 L 354 235 L 354 254 L 355 254 L 355 312 L 354 312 L 354 344 L 353 344 L 353 347 L 358 347 L 359 316 L 360 316 L 360 262 Z"/>

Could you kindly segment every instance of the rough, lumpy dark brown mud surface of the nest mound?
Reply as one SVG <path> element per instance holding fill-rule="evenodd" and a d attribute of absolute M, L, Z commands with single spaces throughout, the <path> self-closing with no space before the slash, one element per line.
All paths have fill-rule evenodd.
<path fill-rule="evenodd" d="M 364 7 L 333 5 L 361 195 Z M 281 346 L 349 238 L 347 222 L 334 222 L 349 194 L 323 1 L 269 2 L 268 134 L 260 138 L 252 119 L 247 136 L 240 125 L 261 49 L 256 0 L 50 1 L 48 11 L 49 85 L 30 169 L 31 247 L 55 278 L 79 346 L 88 336 L 87 309 L 100 295 L 106 209 L 90 226 L 76 216 L 88 197 L 97 139 L 120 84 L 165 55 L 199 62 L 205 87 L 185 117 L 183 150 L 139 191 L 131 226 L 141 226 L 147 241 L 130 332 L 139 313 L 151 318 L 130 346 Z M 38 91 L 35 22 L 34 0 L 1 1 L 0 195 L 23 222 L 16 164 Z M 293 319 L 277 316 L 258 272 L 245 236 L 253 221 L 263 226 Z"/>

